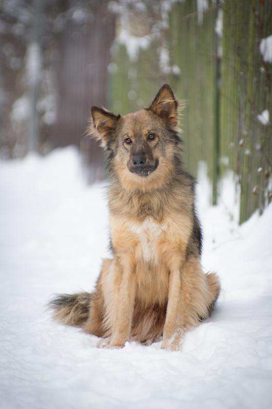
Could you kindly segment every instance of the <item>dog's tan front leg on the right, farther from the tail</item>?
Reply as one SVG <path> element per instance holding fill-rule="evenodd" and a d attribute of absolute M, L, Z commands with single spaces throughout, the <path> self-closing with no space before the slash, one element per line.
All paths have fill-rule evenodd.
<path fill-rule="evenodd" d="M 168 304 L 163 332 L 163 349 L 178 351 L 183 338 L 181 311 L 182 280 L 180 262 L 173 263 L 169 275 Z"/>

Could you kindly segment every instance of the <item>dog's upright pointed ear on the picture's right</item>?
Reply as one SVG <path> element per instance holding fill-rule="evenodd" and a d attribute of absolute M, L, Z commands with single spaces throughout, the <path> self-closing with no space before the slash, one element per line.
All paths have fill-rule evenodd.
<path fill-rule="evenodd" d="M 176 126 L 178 123 L 177 106 L 178 102 L 170 85 L 164 84 L 148 109 L 163 118 L 168 125 Z"/>

